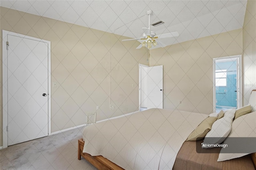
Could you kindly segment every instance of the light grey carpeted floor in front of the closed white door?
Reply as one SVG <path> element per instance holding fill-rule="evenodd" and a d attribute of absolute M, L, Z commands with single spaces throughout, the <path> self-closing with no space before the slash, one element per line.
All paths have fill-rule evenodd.
<path fill-rule="evenodd" d="M 0 169 L 94 170 L 96 168 L 84 158 L 77 158 L 82 129 L 76 128 L 8 146 L 0 150 Z"/>

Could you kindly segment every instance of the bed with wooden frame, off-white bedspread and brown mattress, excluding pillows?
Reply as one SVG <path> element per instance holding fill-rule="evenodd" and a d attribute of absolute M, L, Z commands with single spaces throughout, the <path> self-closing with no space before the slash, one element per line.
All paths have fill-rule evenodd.
<path fill-rule="evenodd" d="M 78 140 L 78 159 L 82 156 L 98 169 L 254 170 L 255 153 L 217 162 L 218 153 L 207 153 L 210 149 L 206 149 L 198 154 L 196 142 L 185 141 L 206 117 L 186 111 L 148 109 L 96 123 L 84 128 L 83 138 Z"/>

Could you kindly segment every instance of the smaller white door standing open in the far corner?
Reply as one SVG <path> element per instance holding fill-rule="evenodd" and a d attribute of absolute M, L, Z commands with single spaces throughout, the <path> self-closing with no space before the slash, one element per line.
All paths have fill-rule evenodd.
<path fill-rule="evenodd" d="M 148 67 L 148 109 L 163 109 L 163 66 Z"/>

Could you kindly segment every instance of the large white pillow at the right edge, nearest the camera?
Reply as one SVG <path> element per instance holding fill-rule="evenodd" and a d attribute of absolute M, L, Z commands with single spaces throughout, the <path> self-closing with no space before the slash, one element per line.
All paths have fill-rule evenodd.
<path fill-rule="evenodd" d="M 235 119 L 232 124 L 232 130 L 228 138 L 226 138 L 226 140 L 224 141 L 224 144 L 227 144 L 228 146 L 232 146 L 232 144 L 234 145 L 234 139 L 232 140 L 232 137 L 256 137 L 256 112 L 248 113 L 246 115 L 243 115 Z M 246 147 L 246 146 L 247 146 L 246 144 L 244 145 L 240 144 L 239 149 L 243 149 L 243 147 Z M 250 147 L 249 150 L 251 150 L 250 153 L 256 152 L 256 147 Z M 250 153 L 222 153 L 222 152 L 224 152 L 224 148 L 222 148 L 220 151 L 218 162 L 239 158 L 241 156 L 250 154 Z"/>

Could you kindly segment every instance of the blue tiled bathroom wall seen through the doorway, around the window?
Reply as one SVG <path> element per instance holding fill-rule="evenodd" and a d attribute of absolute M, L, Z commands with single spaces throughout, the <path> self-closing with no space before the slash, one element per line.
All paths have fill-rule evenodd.
<path fill-rule="evenodd" d="M 236 107 L 236 63 L 216 63 L 216 69 L 227 69 L 227 86 L 216 86 L 216 105 Z"/>

